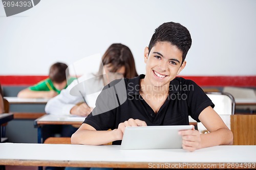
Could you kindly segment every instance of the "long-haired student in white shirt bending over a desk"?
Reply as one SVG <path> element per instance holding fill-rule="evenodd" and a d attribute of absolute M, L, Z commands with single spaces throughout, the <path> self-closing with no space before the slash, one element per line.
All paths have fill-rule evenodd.
<path fill-rule="evenodd" d="M 95 64 L 95 63 L 92 63 Z M 97 64 L 97 63 L 96 63 Z M 106 77 L 101 77 L 102 80 L 99 82 L 103 82 L 103 85 L 110 83 L 110 81 L 114 79 L 119 79 L 122 77 L 125 78 L 134 78 L 138 76 L 133 54 L 129 47 L 123 45 L 121 43 L 114 43 L 109 46 L 104 55 L 102 56 L 102 64 L 103 67 L 99 68 L 99 75 L 104 73 Z M 114 74 L 113 74 L 114 73 Z M 75 82 L 74 82 L 75 83 Z M 72 86 L 72 85 L 69 85 Z M 67 89 L 63 89 L 59 95 L 55 96 L 51 100 L 47 102 L 45 111 L 48 114 L 62 114 L 62 115 L 80 115 L 87 116 L 93 107 L 95 107 L 95 102 L 99 93 L 95 93 L 93 98 L 87 101 L 89 106 L 84 103 L 82 96 L 72 96 L 69 93 L 69 87 Z M 77 105 L 79 103 L 79 105 Z M 43 140 L 50 135 L 53 135 L 53 132 L 56 130 L 61 130 L 61 136 L 71 137 L 71 135 L 77 130 L 77 128 L 71 125 L 61 125 L 61 126 L 44 126 L 42 128 L 42 136 Z M 65 134 L 63 133 L 65 132 Z M 67 134 L 67 132 L 69 134 Z M 66 167 L 66 170 L 87 170 L 90 167 Z M 104 169 L 112 169 L 112 168 L 91 168 L 91 170 L 104 170 Z"/>

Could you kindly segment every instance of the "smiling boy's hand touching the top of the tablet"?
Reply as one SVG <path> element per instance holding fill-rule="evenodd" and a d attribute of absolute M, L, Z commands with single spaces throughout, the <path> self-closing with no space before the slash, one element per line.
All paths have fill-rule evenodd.
<path fill-rule="evenodd" d="M 126 120 L 125 122 L 120 123 L 118 125 L 117 138 L 119 140 L 122 140 L 125 127 L 131 127 L 131 126 L 147 126 L 147 125 L 142 120 L 130 118 L 129 120 Z"/>

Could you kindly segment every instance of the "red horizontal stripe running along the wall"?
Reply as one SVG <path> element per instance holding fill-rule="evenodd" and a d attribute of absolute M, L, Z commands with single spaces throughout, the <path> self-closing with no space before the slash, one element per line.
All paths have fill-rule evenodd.
<path fill-rule="evenodd" d="M 256 76 L 182 76 L 195 81 L 199 86 L 256 87 Z M 0 76 L 1 85 L 34 85 L 48 76 Z"/>

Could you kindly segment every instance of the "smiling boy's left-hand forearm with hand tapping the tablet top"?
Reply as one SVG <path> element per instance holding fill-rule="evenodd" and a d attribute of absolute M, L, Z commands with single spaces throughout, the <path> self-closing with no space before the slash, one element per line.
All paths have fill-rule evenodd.
<path fill-rule="evenodd" d="M 146 123 L 139 119 L 132 119 L 120 123 L 117 129 L 111 131 L 96 131 L 88 124 L 82 124 L 71 136 L 72 144 L 101 145 L 115 140 L 122 140 L 125 127 L 146 126 Z"/>

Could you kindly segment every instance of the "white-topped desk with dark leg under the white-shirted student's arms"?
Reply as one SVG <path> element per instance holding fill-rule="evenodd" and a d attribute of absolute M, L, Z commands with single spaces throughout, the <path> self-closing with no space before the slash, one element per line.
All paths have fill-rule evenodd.
<path fill-rule="evenodd" d="M 42 143 L 41 126 L 44 125 L 81 125 L 85 117 L 73 115 L 51 115 L 46 114 L 34 121 L 34 127 L 37 128 L 37 142 Z"/>

